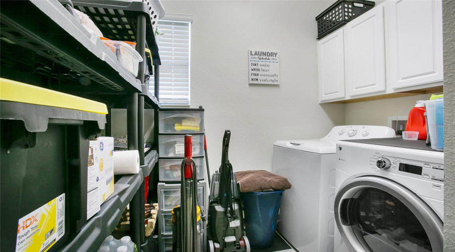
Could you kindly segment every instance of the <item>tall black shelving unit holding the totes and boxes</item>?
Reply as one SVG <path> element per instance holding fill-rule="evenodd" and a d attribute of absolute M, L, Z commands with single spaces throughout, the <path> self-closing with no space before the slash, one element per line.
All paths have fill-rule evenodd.
<path fill-rule="evenodd" d="M 152 14 L 149 0 L 78 0 L 73 5 L 86 13 L 105 37 L 136 42 L 136 50 L 146 60 L 147 46 L 157 85 L 161 61 L 152 26 L 159 17 Z M 152 150 L 144 155 L 144 108 L 153 108 L 157 114 L 156 109 L 161 105 L 157 99 L 159 89 L 155 87 L 155 94 L 151 94 L 144 85 L 148 74 L 146 60 L 140 62 L 138 77 L 134 78 L 115 54 L 86 31 L 58 0 L 2 1 L 0 14 L 2 78 L 103 102 L 109 112 L 111 108 L 126 108 L 128 149 L 140 153 L 140 173 L 123 175 L 116 184 L 127 184 L 127 188 L 104 202 L 101 210 L 77 233 L 70 234 L 59 250 L 98 249 L 129 204 L 131 240 L 138 248 L 148 251 L 143 214 L 144 177 L 156 166 L 158 154 Z M 109 136 L 109 116 L 107 121 Z"/>

